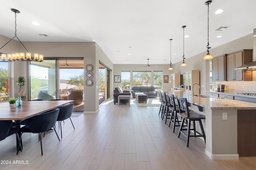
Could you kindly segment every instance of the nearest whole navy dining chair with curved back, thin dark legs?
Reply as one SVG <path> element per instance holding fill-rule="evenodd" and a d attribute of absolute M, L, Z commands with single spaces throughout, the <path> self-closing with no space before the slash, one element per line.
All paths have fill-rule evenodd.
<path fill-rule="evenodd" d="M 43 155 L 43 149 L 42 149 L 42 133 L 43 132 L 46 132 L 49 129 L 53 128 L 60 141 L 60 138 L 54 127 L 56 124 L 59 111 L 60 109 L 57 108 L 57 109 L 48 111 L 46 113 L 42 113 L 40 115 L 36 115 L 34 117 L 30 117 L 26 119 L 26 125 L 20 128 L 20 141 L 23 133 L 39 133 L 41 153 Z"/>

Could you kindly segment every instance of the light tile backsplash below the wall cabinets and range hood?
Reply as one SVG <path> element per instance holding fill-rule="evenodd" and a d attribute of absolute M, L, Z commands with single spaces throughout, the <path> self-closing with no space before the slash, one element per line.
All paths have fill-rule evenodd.
<path fill-rule="evenodd" d="M 252 71 L 252 81 L 225 81 L 212 82 L 212 88 L 216 88 L 216 84 L 225 84 L 228 90 L 237 92 L 256 92 L 256 70 Z"/>

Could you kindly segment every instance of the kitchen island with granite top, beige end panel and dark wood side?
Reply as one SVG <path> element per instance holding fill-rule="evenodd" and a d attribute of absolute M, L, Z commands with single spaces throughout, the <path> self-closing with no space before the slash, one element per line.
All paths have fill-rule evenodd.
<path fill-rule="evenodd" d="M 211 159 L 239 159 L 256 156 L 256 104 L 189 92 L 169 92 L 187 98 L 190 109 L 206 116 L 205 154 Z M 253 133 L 252 133 L 253 132 Z"/>

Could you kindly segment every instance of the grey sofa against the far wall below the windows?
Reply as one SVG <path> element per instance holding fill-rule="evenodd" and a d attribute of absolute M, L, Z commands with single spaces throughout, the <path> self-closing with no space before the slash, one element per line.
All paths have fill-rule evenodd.
<path fill-rule="evenodd" d="M 144 93 L 148 95 L 148 98 L 157 98 L 157 90 L 154 86 L 133 86 L 132 87 L 132 98 L 135 98 L 135 93 Z"/>

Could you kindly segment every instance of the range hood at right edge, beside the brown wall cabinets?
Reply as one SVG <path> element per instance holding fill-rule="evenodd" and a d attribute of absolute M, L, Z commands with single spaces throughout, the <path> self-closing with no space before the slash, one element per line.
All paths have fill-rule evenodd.
<path fill-rule="evenodd" d="M 256 70 L 256 28 L 253 29 L 253 59 L 252 62 L 246 63 L 235 68 L 235 70 Z"/>

